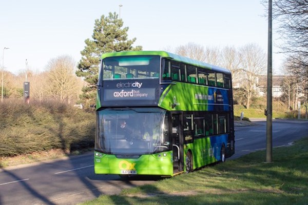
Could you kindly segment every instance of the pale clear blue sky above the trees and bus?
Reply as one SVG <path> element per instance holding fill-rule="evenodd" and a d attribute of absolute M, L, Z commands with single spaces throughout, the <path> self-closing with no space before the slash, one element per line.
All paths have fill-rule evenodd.
<path fill-rule="evenodd" d="M 189 42 L 240 47 L 256 43 L 267 52 L 267 18 L 260 0 L 0 0 L 0 62 L 12 73 L 42 72 L 60 55 L 81 59 L 94 20 L 119 13 L 129 27 L 129 39 L 143 50 L 176 48 Z M 274 33 L 275 38 L 275 33 Z M 274 47 L 274 52 L 276 48 Z M 274 53 L 274 70 L 281 57 Z"/>

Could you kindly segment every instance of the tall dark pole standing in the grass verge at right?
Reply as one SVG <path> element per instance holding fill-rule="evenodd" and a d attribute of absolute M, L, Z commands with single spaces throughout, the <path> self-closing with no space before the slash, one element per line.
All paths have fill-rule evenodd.
<path fill-rule="evenodd" d="M 272 0 L 268 1 L 267 42 L 267 105 L 266 105 L 266 162 L 272 162 L 273 150 L 273 108 L 272 108 Z"/>

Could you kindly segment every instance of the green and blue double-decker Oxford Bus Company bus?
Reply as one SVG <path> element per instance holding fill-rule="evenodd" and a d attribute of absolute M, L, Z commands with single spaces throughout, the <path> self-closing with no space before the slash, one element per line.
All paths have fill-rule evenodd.
<path fill-rule="evenodd" d="M 235 153 L 229 70 L 165 51 L 105 53 L 97 174 L 174 176 Z"/>

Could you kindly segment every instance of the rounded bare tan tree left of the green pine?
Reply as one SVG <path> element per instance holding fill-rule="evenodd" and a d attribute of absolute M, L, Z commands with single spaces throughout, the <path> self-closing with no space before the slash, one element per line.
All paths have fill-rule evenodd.
<path fill-rule="evenodd" d="M 64 55 L 51 59 L 47 70 L 47 92 L 50 97 L 70 103 L 81 91 L 79 78 L 74 75 L 75 61 Z"/>

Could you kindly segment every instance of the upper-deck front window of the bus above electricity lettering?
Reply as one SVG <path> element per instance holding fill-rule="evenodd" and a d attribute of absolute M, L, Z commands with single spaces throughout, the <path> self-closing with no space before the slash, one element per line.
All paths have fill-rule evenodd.
<path fill-rule="evenodd" d="M 158 78 L 160 56 L 115 56 L 103 59 L 103 79 Z"/>

